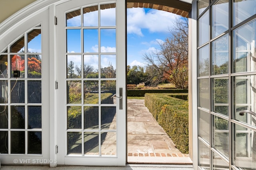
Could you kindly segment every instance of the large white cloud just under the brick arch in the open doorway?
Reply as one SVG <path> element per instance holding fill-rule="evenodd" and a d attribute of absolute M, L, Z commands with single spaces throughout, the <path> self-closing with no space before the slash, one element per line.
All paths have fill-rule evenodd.
<path fill-rule="evenodd" d="M 176 14 L 161 10 L 149 10 L 143 8 L 127 9 L 127 33 L 143 36 L 141 29 L 149 29 L 151 33 L 168 32 L 168 28 L 179 17 Z"/>

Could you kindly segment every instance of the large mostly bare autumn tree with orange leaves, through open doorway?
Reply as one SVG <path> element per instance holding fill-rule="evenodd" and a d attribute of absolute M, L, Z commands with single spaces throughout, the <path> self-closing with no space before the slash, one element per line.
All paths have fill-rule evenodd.
<path fill-rule="evenodd" d="M 176 88 L 188 88 L 188 20 L 176 19 L 170 34 L 159 43 L 159 50 L 145 54 L 143 59 Z"/>

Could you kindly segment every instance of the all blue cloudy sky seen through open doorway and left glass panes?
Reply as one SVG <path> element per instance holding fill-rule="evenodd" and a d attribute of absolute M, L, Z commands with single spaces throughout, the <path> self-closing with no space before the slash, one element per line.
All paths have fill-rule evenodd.
<path fill-rule="evenodd" d="M 104 18 L 102 20 L 108 21 L 108 24 L 114 25 L 115 12 L 114 8 L 101 11 Z M 103 13 L 104 12 L 104 13 Z M 86 19 L 90 18 L 90 19 Z M 98 13 L 89 12 L 84 14 L 85 26 L 97 26 Z M 146 66 L 142 57 L 146 53 L 151 53 L 159 49 L 159 43 L 165 41 L 166 37 L 170 36 L 169 29 L 172 28 L 173 22 L 180 16 L 172 14 L 170 12 L 154 10 L 149 8 L 128 8 L 127 9 L 127 64 L 130 66 L 139 65 Z M 67 20 L 67 26 L 80 26 L 81 16 L 76 16 L 70 20 Z M 87 22 L 86 22 L 87 21 Z M 94 22 L 93 22 L 94 21 Z M 101 23 L 103 24 L 103 23 Z M 101 52 L 114 52 L 116 51 L 115 42 L 115 29 L 102 29 L 101 32 Z M 36 37 L 33 41 L 40 41 L 40 37 Z M 67 30 L 67 51 L 70 53 L 81 53 L 81 32 L 80 29 L 68 29 Z M 98 31 L 97 29 L 84 29 L 84 39 L 90 41 L 84 41 L 84 53 L 98 53 Z M 113 39 L 113 41 L 111 40 Z M 30 51 L 41 52 L 36 44 L 30 43 Z M 32 45 L 35 45 L 33 47 Z M 97 44 L 97 45 L 96 45 Z M 102 56 L 103 57 L 103 56 Z M 81 56 L 69 55 L 68 61 L 73 61 L 75 64 L 81 64 Z M 98 67 L 98 55 L 85 55 L 84 60 L 88 64 Z M 101 66 L 108 66 L 109 63 L 115 64 L 115 55 L 105 55 L 102 58 Z"/>

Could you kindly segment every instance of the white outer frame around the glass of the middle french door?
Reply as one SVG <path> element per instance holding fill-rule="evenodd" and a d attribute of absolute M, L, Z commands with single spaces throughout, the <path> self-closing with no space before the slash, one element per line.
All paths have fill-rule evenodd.
<path fill-rule="evenodd" d="M 74 2 L 76 4 L 74 5 Z M 54 31 L 58 29 L 56 32 L 56 37 L 58 37 L 58 40 L 56 39 L 56 49 L 54 53 L 56 54 L 54 57 L 54 62 L 58 61 L 55 64 L 55 74 L 52 75 L 54 77 L 54 80 L 58 82 L 58 89 L 54 90 L 54 96 L 55 96 L 55 104 L 56 107 L 54 108 L 55 115 L 54 119 L 56 121 L 52 122 L 53 125 L 55 123 L 55 131 L 56 134 L 55 140 L 56 145 L 58 145 L 58 154 L 57 156 L 51 153 L 52 158 L 57 158 L 57 164 L 65 164 L 65 165 L 102 165 L 102 166 L 124 166 L 126 164 L 126 19 L 125 19 L 125 0 L 110 0 L 106 2 L 115 2 L 116 3 L 116 69 L 118 72 L 116 73 L 116 93 L 117 96 L 120 93 L 119 89 L 122 88 L 122 109 L 119 108 L 119 102 L 117 102 L 116 107 L 116 114 L 117 114 L 117 130 L 116 130 L 116 143 L 117 143 L 117 153 L 115 157 L 85 157 L 85 156 L 65 156 L 66 155 L 66 143 L 64 141 L 58 141 L 58 138 L 56 139 L 57 135 L 60 135 L 59 129 L 65 128 L 63 127 L 63 124 L 58 124 L 58 111 L 61 109 L 62 105 L 58 106 L 58 98 L 66 98 L 65 95 L 65 84 L 63 84 L 63 80 L 65 80 L 65 73 L 64 72 L 58 72 L 58 68 L 65 65 L 65 60 L 58 60 L 58 56 L 65 56 L 65 37 L 62 35 L 65 35 L 64 32 L 60 33 L 61 29 L 64 31 L 65 26 L 65 12 L 68 10 L 80 8 L 80 6 L 84 6 L 86 4 L 95 4 L 98 2 L 98 0 L 91 0 L 90 3 L 84 2 L 82 0 L 78 1 L 69 1 L 63 4 L 60 4 L 59 6 L 56 6 L 56 17 L 58 18 L 58 25 L 53 27 Z M 70 7 L 72 6 L 72 8 Z M 74 7 L 74 8 L 73 8 Z M 52 6 L 52 8 L 54 8 Z M 55 13 L 55 12 L 53 12 Z M 59 28 L 60 27 L 60 28 Z M 58 36 L 59 35 L 59 36 Z M 63 48 L 64 47 L 64 48 Z M 59 49 L 62 49 L 61 52 Z M 118 64 L 121 63 L 121 64 Z M 117 81 L 118 80 L 118 81 Z M 58 96 L 60 95 L 60 96 Z M 119 101 L 119 100 L 117 100 Z M 63 106 L 62 106 L 63 107 Z M 63 112 L 63 111 L 62 111 Z M 56 126 L 57 124 L 57 126 Z M 57 133 L 58 132 L 58 133 Z M 53 137 L 53 135 L 51 135 Z M 51 149 L 54 149 L 56 145 L 51 145 Z M 55 149 L 54 149 L 55 150 Z M 54 166 L 54 165 L 52 165 Z M 56 165 L 55 165 L 56 166 Z"/>

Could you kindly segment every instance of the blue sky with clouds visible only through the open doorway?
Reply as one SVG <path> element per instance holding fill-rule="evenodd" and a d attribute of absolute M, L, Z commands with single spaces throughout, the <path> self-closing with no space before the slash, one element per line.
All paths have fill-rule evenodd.
<path fill-rule="evenodd" d="M 149 8 L 127 9 L 127 64 L 145 66 L 142 57 L 159 49 L 180 16 Z"/>

